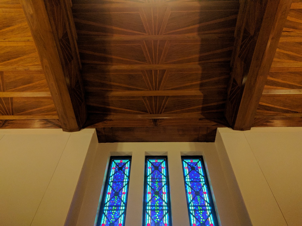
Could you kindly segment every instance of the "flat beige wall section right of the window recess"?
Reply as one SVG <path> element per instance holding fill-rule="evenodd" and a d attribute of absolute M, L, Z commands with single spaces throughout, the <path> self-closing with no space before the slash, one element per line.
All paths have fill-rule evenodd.
<path fill-rule="evenodd" d="M 302 225 L 301 138 L 298 127 L 218 129 L 253 225 Z"/>

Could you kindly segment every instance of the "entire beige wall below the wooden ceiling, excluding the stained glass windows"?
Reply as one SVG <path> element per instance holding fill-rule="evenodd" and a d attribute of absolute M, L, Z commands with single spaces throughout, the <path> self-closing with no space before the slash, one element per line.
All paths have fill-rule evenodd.
<path fill-rule="evenodd" d="M 110 155 L 132 155 L 126 226 L 142 222 L 145 155 L 168 155 L 173 226 L 189 225 L 180 157 L 203 155 L 220 225 L 300 226 L 301 137 L 220 128 L 215 143 L 98 144 L 93 129 L 0 130 L 0 225 L 93 225 Z"/>

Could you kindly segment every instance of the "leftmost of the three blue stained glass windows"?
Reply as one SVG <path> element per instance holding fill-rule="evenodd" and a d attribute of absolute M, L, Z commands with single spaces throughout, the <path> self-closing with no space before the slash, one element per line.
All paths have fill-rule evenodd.
<path fill-rule="evenodd" d="M 131 156 L 112 156 L 109 162 L 97 226 L 124 226 Z"/>

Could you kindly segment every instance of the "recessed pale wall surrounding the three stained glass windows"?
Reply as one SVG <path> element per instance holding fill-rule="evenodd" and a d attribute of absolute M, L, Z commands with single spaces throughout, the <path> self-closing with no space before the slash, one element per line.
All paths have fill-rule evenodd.
<path fill-rule="evenodd" d="M 132 155 L 126 226 L 142 225 L 145 155 L 168 155 L 173 226 L 189 225 L 181 155 L 203 155 L 220 225 L 243 225 L 214 143 L 100 143 L 77 226 L 94 225 L 110 155 Z M 247 220 L 241 218 L 247 217 Z M 248 226 L 250 224 L 245 224 Z"/>

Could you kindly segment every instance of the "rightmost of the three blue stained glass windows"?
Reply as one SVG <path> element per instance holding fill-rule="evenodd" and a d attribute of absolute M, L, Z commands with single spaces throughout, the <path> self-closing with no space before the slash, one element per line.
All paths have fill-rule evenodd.
<path fill-rule="evenodd" d="M 190 226 L 218 226 L 201 156 L 182 156 Z"/>

